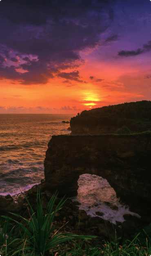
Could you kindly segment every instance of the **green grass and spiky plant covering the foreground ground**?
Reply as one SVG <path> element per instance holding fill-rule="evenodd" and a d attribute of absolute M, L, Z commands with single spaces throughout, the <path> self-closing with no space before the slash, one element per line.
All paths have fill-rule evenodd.
<path fill-rule="evenodd" d="M 40 192 L 40 191 L 39 191 Z M 24 196 L 25 197 L 25 196 Z M 8 216 L 1 216 L 0 218 L 0 228 L 2 231 L 0 233 L 0 256 L 150 256 L 151 255 L 151 244 L 149 237 L 145 230 L 146 245 L 141 245 L 138 236 L 140 233 L 135 234 L 135 238 L 130 242 L 126 240 L 124 245 L 119 245 L 116 239 L 115 231 L 115 241 L 106 242 L 104 240 L 104 245 L 94 245 L 97 236 L 80 236 L 71 233 L 59 233 L 56 231 L 53 234 L 55 226 L 52 227 L 53 219 L 58 210 L 61 209 L 64 202 L 62 200 L 57 205 L 56 209 L 52 212 L 54 202 L 56 200 L 56 193 L 52 196 L 49 204 L 47 206 L 44 216 L 42 215 L 42 203 L 38 202 L 38 192 L 37 192 L 37 218 L 33 209 L 31 208 L 27 198 L 27 202 L 31 208 L 32 216 L 29 220 L 19 216 L 18 214 L 11 213 L 14 216 L 23 219 L 27 225 L 23 225 L 16 220 L 11 219 Z M 5 220 L 2 223 L 2 219 L 11 220 L 9 223 Z M 79 220 L 80 222 L 80 220 Z M 12 223 L 16 223 L 18 227 L 18 233 L 13 234 L 14 227 L 11 229 Z M 8 228 L 9 225 L 9 228 Z M 28 227 L 28 228 L 27 228 Z M 146 227 L 146 231 L 151 234 L 150 225 Z M 16 228 L 17 230 L 17 228 Z M 80 228 L 77 228 L 77 233 Z M 57 234 L 58 233 L 58 234 Z M 4 234 L 4 235 L 3 235 Z M 7 237 L 6 237 L 7 234 Z M 142 237 L 141 237 L 142 238 Z M 149 240 L 147 240 L 149 238 Z"/>

